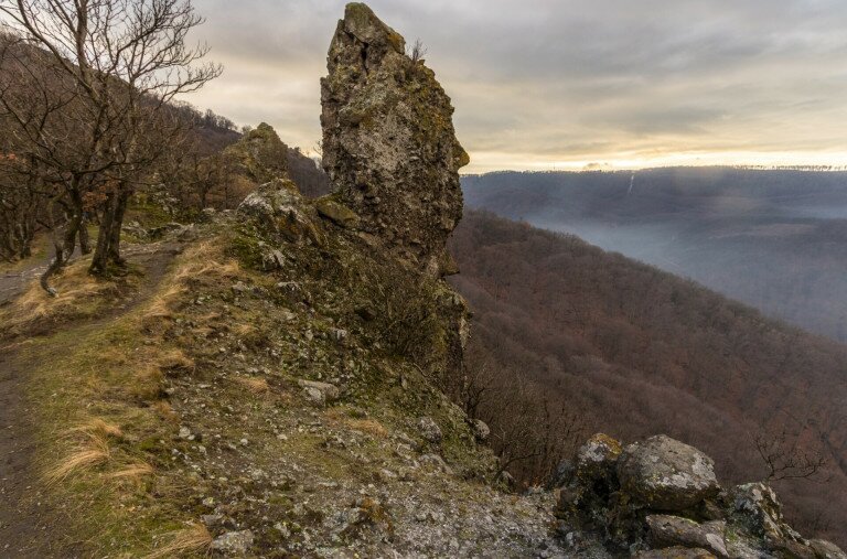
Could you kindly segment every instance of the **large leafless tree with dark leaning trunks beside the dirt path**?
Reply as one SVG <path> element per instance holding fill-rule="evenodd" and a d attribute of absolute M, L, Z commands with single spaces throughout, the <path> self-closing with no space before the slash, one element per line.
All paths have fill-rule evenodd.
<path fill-rule="evenodd" d="M 94 193 L 103 201 L 90 271 L 105 275 L 122 264 L 129 196 L 184 126 L 169 104 L 221 74 L 199 64 L 207 47 L 185 43 L 203 19 L 189 0 L 0 0 L 0 13 L 19 36 L 0 52 L 0 107 L 69 208 L 49 271 L 73 252 Z"/>

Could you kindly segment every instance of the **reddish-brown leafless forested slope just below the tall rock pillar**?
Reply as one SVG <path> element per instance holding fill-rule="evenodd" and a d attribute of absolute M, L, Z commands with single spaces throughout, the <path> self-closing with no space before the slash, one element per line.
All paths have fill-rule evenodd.
<path fill-rule="evenodd" d="M 843 541 L 847 348 L 577 237 L 486 213 L 465 212 L 452 250 L 454 284 L 474 311 L 473 351 L 490 359 L 481 384 L 496 391 L 525 378 L 590 430 L 668 433 L 733 481 L 773 473 L 757 442 L 782 465 L 824 458 L 824 472 L 776 486 L 803 529 Z M 507 413 L 481 407 L 483 419 Z"/>

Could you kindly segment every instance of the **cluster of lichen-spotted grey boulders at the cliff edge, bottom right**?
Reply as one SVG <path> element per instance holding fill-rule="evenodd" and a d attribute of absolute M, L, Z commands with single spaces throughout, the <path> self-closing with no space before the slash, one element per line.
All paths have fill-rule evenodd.
<path fill-rule="evenodd" d="M 575 463 L 559 466 L 559 533 L 575 556 L 640 558 L 840 558 L 837 546 L 807 540 L 783 518 L 763 483 L 726 491 L 714 462 L 669 437 L 622 448 L 592 437 Z"/>

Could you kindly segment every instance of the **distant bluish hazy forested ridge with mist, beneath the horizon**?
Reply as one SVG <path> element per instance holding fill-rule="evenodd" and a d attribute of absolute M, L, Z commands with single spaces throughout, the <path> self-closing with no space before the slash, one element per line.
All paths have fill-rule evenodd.
<path fill-rule="evenodd" d="M 469 206 L 572 233 L 847 341 L 847 173 L 731 168 L 492 173 Z"/>

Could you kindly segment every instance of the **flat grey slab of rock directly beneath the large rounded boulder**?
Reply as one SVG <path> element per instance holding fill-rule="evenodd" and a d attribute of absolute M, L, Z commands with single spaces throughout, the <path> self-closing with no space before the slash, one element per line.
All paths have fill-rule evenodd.
<path fill-rule="evenodd" d="M 729 557 L 725 541 L 727 523 L 722 520 L 698 524 L 678 516 L 650 515 L 646 522 L 654 548 L 683 546 L 706 549 L 720 558 Z"/>

